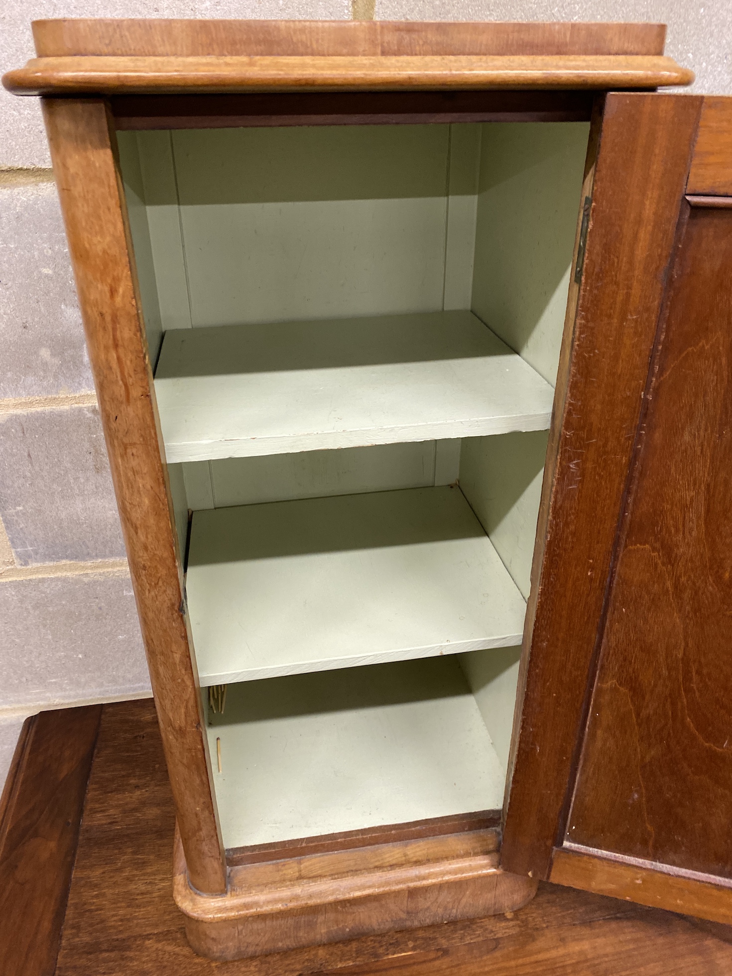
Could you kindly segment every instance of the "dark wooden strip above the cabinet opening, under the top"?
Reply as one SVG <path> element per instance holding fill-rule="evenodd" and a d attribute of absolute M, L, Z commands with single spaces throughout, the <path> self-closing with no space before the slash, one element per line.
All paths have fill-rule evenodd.
<path fill-rule="evenodd" d="M 118 130 L 243 126 L 413 125 L 446 122 L 586 122 L 591 92 L 295 92 L 119 96 Z"/>

